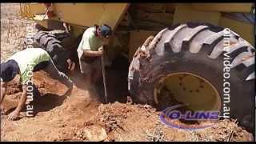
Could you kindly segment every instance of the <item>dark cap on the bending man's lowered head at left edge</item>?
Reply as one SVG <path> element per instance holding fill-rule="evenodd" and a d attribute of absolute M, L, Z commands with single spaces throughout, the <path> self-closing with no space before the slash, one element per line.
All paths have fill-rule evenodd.
<path fill-rule="evenodd" d="M 14 60 L 1 63 L 0 77 L 3 82 L 10 82 L 18 74 L 18 63 Z"/>

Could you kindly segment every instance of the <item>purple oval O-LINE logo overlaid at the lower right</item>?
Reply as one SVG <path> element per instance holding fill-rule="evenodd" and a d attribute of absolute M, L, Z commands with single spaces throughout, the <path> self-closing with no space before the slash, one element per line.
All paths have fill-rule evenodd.
<path fill-rule="evenodd" d="M 182 106 L 186 105 L 170 106 L 163 110 L 159 116 L 161 122 L 167 126 L 178 129 L 197 130 L 214 126 L 215 122 L 218 121 L 219 111 L 186 110 L 184 112 L 183 110 L 182 112 L 181 110 L 178 110 L 178 108 L 181 108 Z"/>

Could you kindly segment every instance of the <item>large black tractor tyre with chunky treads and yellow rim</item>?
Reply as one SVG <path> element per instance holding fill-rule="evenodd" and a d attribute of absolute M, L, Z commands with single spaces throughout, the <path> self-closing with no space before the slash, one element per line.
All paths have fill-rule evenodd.
<path fill-rule="evenodd" d="M 227 41 L 229 53 L 223 50 Z M 128 89 L 134 102 L 158 110 L 175 102 L 190 110 L 219 110 L 220 115 L 230 109 L 230 118 L 252 131 L 254 52 L 229 29 L 192 22 L 170 26 L 138 48 L 130 63 Z"/>

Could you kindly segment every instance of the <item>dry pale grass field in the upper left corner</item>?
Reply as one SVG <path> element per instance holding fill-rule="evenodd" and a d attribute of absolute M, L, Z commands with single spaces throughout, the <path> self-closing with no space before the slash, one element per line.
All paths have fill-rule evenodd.
<path fill-rule="evenodd" d="M 34 24 L 21 18 L 18 3 L 1 3 L 1 62 L 21 50 L 26 29 Z"/>

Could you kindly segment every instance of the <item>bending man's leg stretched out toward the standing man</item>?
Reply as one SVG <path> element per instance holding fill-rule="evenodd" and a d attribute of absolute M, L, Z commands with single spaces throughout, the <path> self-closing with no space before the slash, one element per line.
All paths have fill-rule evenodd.
<path fill-rule="evenodd" d="M 64 85 L 66 85 L 69 89 L 73 87 L 73 82 L 70 80 L 66 74 L 58 71 L 57 67 L 54 65 L 54 62 L 50 59 L 48 66 L 44 69 L 46 73 L 50 74 L 51 78 L 58 79 Z"/>

